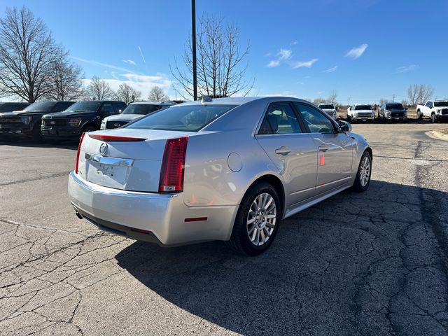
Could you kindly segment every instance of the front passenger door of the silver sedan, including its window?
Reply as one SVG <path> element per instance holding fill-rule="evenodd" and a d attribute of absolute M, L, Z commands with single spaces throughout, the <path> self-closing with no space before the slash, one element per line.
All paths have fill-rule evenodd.
<path fill-rule="evenodd" d="M 325 193 L 351 179 L 354 139 L 337 132 L 335 123 L 313 106 L 294 103 L 318 150 L 316 193 Z"/>

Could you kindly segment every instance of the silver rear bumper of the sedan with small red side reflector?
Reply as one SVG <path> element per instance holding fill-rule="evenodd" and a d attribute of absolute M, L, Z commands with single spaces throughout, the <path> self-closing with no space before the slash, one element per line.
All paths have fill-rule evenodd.
<path fill-rule="evenodd" d="M 69 196 L 76 211 L 98 228 L 164 246 L 228 240 L 238 209 L 237 205 L 188 207 L 181 193 L 164 195 L 107 188 L 85 181 L 74 172 L 69 176 Z"/>

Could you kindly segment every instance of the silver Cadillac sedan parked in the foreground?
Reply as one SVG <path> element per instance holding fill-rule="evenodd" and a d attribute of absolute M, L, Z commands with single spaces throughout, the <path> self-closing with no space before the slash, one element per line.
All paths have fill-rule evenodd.
<path fill-rule="evenodd" d="M 367 190 L 372 149 L 350 131 L 301 99 L 204 98 L 83 134 L 69 195 L 78 218 L 107 232 L 257 255 L 283 218 Z"/>

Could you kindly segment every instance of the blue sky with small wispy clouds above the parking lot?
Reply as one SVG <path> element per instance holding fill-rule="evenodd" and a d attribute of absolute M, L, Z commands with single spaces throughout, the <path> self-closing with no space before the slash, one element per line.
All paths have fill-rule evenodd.
<path fill-rule="evenodd" d="M 113 87 L 153 85 L 174 98 L 169 62 L 190 32 L 190 1 L 18 1 L 70 50 L 85 77 Z M 197 0 L 197 16 L 221 15 L 250 43 L 253 94 L 377 102 L 405 99 L 410 84 L 448 97 L 447 0 Z"/>

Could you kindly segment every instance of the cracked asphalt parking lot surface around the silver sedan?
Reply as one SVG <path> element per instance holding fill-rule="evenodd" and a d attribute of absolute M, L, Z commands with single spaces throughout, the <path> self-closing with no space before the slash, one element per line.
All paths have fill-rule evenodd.
<path fill-rule="evenodd" d="M 447 124 L 353 125 L 370 190 L 288 218 L 267 253 L 161 248 L 80 221 L 76 144 L 0 143 L 1 335 L 447 335 Z"/>

